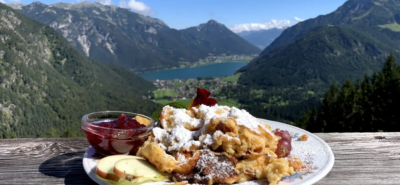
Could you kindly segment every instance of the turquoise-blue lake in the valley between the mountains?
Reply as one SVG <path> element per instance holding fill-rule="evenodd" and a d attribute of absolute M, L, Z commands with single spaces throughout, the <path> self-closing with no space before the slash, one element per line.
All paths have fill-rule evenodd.
<path fill-rule="evenodd" d="M 201 67 L 187 67 L 180 69 L 154 71 L 148 73 L 138 73 L 140 77 L 148 80 L 172 80 L 172 79 L 188 79 L 197 77 L 223 77 L 231 76 L 235 71 L 243 67 L 247 62 L 224 62 L 214 63 Z"/>

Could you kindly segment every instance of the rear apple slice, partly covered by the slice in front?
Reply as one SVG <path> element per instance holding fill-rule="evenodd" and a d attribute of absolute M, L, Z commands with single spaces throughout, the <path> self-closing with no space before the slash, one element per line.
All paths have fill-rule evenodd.
<path fill-rule="evenodd" d="M 120 177 L 114 174 L 114 164 L 121 159 L 146 160 L 142 157 L 137 157 L 134 155 L 110 155 L 98 161 L 96 167 L 96 174 L 103 179 L 118 181 Z"/>

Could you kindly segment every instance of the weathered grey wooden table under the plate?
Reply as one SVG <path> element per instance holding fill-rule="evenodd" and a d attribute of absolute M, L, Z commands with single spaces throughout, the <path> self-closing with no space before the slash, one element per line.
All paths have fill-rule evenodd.
<path fill-rule="evenodd" d="M 400 185 L 400 132 L 316 134 L 335 155 L 318 185 Z M 0 140 L 0 185 L 94 185 L 82 166 L 86 138 Z"/>

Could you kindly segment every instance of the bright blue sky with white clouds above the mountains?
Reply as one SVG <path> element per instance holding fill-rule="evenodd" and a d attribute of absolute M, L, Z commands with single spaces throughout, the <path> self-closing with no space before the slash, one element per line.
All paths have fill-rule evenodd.
<path fill-rule="evenodd" d="M 32 0 L 0 0 L 30 4 Z M 40 0 L 39 0 L 40 1 Z M 214 19 L 234 32 L 290 26 L 301 20 L 328 14 L 346 0 L 89 0 L 115 4 L 163 20 L 175 29 Z M 76 3 L 78 0 L 42 0 Z"/>

